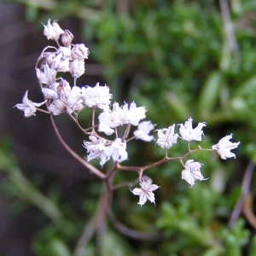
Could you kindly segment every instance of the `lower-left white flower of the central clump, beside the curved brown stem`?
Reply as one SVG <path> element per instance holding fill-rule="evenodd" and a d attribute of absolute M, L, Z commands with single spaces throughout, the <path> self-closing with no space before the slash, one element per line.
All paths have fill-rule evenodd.
<path fill-rule="evenodd" d="M 102 138 L 97 139 L 94 135 L 89 138 L 90 142 L 84 141 L 84 148 L 89 152 L 87 160 L 101 159 L 100 164 L 103 166 L 110 159 L 108 148 L 105 146 L 106 141 Z"/>

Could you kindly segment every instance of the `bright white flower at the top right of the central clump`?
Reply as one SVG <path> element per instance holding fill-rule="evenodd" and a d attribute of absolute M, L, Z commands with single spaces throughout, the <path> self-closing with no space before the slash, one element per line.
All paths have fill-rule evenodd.
<path fill-rule="evenodd" d="M 146 108 L 145 107 L 136 107 L 135 102 L 131 102 L 130 108 L 128 104 L 122 107 L 124 117 L 121 120 L 121 125 L 131 124 L 137 126 L 141 119 L 146 117 Z"/>

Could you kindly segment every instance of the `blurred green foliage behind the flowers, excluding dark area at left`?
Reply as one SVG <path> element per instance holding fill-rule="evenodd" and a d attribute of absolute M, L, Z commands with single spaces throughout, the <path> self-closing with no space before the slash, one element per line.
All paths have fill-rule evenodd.
<path fill-rule="evenodd" d="M 161 186 L 156 207 L 146 204 L 141 208 L 129 189 L 117 190 L 113 208 L 121 221 L 135 230 L 163 232 L 164 236 L 160 241 L 135 242 L 120 237 L 109 224 L 102 249 L 98 251 L 91 241 L 85 255 L 256 255 L 256 239 L 246 221 L 238 218 L 228 227 L 230 212 L 241 194 L 241 176 L 247 163 L 256 161 L 255 1 L 230 1 L 231 35 L 224 29 L 219 3 L 213 0 L 124 2 L 131 6 L 120 9 L 119 1 L 102 1 L 102 6 L 94 1 L 53 1 L 45 8 L 38 1 L 38 6 L 27 3 L 26 17 L 34 22 L 50 17 L 61 24 L 67 15 L 79 16 L 84 41 L 91 45 L 90 59 L 104 66 L 113 101 L 146 106 L 148 119 L 157 128 L 191 116 L 195 123 L 207 122 L 202 147 L 211 147 L 231 132 L 241 145 L 236 160 L 224 162 L 211 153 L 210 157 L 196 154 L 209 180 L 193 188 L 180 180 L 180 166 L 175 163 L 149 170 L 147 175 Z M 43 14 L 38 12 L 41 7 Z M 81 15 L 88 9 L 90 15 Z M 183 154 L 184 147 L 175 145 L 170 152 Z M 164 155 L 154 143 L 132 144 L 129 150 L 131 164 L 137 165 Z M 119 174 L 117 180 L 124 181 L 125 175 Z M 93 194 L 92 187 L 88 195 Z M 96 198 L 84 198 L 81 205 L 93 215 Z M 71 223 L 78 221 L 68 218 Z M 86 223 L 82 220 L 79 225 Z M 58 224 L 46 225 L 35 238 L 32 250 L 36 255 L 71 255 L 78 234 L 63 238 L 61 230 L 50 228 Z"/>

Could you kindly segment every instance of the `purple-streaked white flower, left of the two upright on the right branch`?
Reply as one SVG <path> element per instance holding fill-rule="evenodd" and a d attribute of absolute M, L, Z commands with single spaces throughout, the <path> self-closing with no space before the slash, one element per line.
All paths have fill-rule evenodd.
<path fill-rule="evenodd" d="M 171 148 L 172 144 L 177 143 L 177 133 L 174 133 L 175 125 L 169 126 L 167 129 L 157 130 L 158 139 L 156 143 L 161 148 Z"/>

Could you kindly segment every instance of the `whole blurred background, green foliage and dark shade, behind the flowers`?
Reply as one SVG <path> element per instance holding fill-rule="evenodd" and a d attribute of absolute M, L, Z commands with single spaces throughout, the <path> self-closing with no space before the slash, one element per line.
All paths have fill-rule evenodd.
<path fill-rule="evenodd" d="M 79 241 L 86 256 L 256 254 L 255 1 L 38 0 L 1 6 L 13 14 L 1 26 L 2 254 L 73 255 Z M 155 207 L 139 207 L 122 188 L 113 197 L 118 221 L 101 216 L 102 183 L 61 149 L 47 117 L 24 119 L 12 109 L 26 89 L 42 101 L 33 68 L 48 44 L 40 21 L 49 18 L 90 48 L 79 84 L 108 84 L 114 101 L 146 106 L 158 128 L 190 116 L 207 122 L 204 147 L 233 133 L 241 142 L 236 160 L 196 154 L 209 179 L 193 188 L 172 162 L 149 170 L 161 187 Z M 67 119 L 57 121 L 84 154 L 82 135 Z M 171 150 L 183 154 L 185 144 Z M 154 143 L 133 143 L 129 154 L 136 166 L 159 160 L 163 152 Z M 137 177 L 120 173 L 117 182 L 127 178 Z"/>

